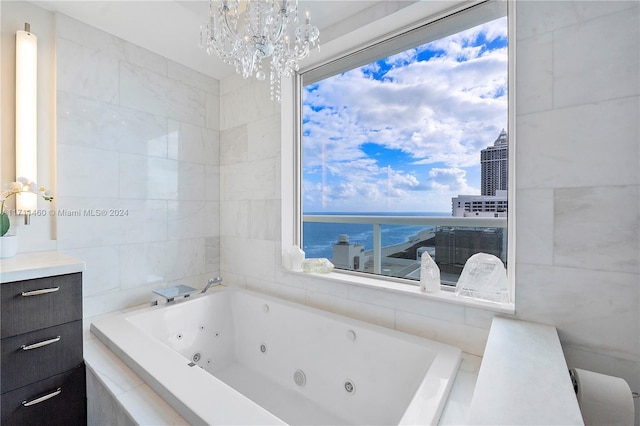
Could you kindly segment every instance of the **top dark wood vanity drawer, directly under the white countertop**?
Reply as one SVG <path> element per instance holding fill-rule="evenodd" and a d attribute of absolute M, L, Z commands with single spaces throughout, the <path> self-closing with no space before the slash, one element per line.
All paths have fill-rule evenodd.
<path fill-rule="evenodd" d="M 82 319 L 82 273 L 0 286 L 1 337 Z"/>

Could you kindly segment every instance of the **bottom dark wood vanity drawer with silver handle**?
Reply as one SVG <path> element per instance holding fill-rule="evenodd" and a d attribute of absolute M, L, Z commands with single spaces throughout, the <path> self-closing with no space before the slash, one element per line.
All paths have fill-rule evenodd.
<path fill-rule="evenodd" d="M 86 425 L 85 395 L 86 383 L 82 365 L 64 374 L 3 394 L 0 423 L 2 426 Z M 45 399 L 47 397 L 49 398 Z"/>

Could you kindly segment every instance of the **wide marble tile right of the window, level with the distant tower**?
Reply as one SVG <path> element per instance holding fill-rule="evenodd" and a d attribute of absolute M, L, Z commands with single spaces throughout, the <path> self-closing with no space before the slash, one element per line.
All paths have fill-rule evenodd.
<path fill-rule="evenodd" d="M 638 97 L 519 116 L 518 190 L 637 185 L 639 116 Z"/>

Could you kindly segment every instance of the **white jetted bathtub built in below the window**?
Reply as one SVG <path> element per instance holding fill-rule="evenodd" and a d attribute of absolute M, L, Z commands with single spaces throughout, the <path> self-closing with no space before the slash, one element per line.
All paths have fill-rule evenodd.
<path fill-rule="evenodd" d="M 461 355 L 223 286 L 91 331 L 192 424 L 435 424 Z"/>

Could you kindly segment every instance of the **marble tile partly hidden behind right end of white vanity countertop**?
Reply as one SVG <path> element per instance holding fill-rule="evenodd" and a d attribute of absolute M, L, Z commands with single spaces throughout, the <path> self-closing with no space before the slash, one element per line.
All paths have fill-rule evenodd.
<path fill-rule="evenodd" d="M 82 274 L 84 296 L 115 291 L 120 286 L 120 254 L 117 246 L 87 247 L 66 250 L 66 253 L 84 260 L 86 264 Z"/>

